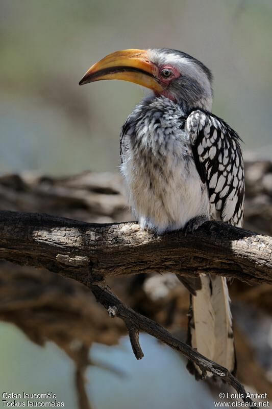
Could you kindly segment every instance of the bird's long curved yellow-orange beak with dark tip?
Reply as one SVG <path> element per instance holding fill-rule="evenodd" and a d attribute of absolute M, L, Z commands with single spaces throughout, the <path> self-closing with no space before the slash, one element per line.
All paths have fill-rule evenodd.
<path fill-rule="evenodd" d="M 155 78 L 155 66 L 146 50 L 121 50 L 107 55 L 90 67 L 79 85 L 101 80 L 123 80 L 143 85 L 155 92 L 163 88 Z"/>

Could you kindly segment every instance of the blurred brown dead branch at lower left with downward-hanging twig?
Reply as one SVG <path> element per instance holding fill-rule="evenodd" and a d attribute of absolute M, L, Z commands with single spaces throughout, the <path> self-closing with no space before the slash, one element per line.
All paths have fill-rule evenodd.
<path fill-rule="evenodd" d="M 65 351 L 76 367 L 79 409 L 91 409 L 85 372 L 89 365 L 103 364 L 88 358 L 89 349 L 93 342 L 117 344 L 125 325 L 112 323 L 88 288 L 75 280 L 7 262 L 0 266 L 0 320 L 15 324 L 37 345 L 51 340 Z"/>

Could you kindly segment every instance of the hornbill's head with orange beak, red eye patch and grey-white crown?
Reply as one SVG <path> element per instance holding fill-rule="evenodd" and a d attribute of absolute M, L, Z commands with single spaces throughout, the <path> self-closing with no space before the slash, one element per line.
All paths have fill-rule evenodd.
<path fill-rule="evenodd" d="M 125 80 L 180 103 L 184 109 L 210 110 L 212 75 L 200 61 L 177 50 L 122 50 L 92 65 L 80 85 L 100 80 Z"/>

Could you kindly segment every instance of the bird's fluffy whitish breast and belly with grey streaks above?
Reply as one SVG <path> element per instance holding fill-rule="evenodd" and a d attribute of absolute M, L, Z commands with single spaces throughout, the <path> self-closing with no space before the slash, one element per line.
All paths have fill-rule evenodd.
<path fill-rule="evenodd" d="M 206 185 L 195 167 L 182 122 L 177 121 L 181 112 L 173 109 L 176 104 L 169 104 L 166 112 L 154 110 L 152 120 L 142 115 L 137 123 L 133 115 L 139 118 L 141 105 L 136 107 L 121 135 L 121 172 L 130 206 L 141 226 L 158 234 L 210 214 Z"/>

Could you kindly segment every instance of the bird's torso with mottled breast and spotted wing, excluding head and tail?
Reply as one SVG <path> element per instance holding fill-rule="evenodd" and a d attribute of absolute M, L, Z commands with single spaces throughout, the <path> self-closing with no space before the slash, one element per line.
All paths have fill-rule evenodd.
<path fill-rule="evenodd" d="M 143 227 L 158 233 L 192 218 L 243 220 L 238 135 L 203 109 L 185 113 L 165 97 L 137 105 L 120 135 L 121 171 Z"/>

